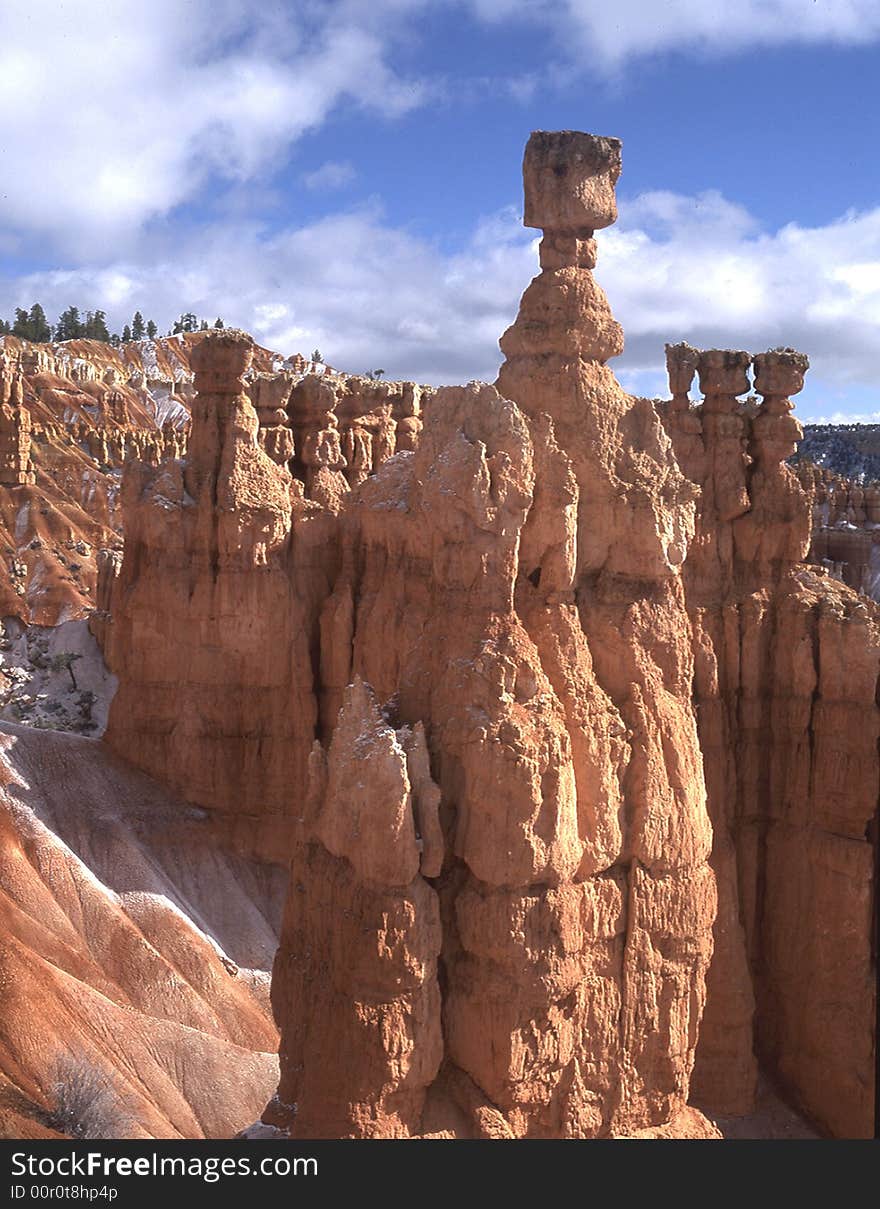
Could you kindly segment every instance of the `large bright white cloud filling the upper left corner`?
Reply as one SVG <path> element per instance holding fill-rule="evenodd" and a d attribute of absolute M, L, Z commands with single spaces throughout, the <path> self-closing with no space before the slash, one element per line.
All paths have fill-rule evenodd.
<path fill-rule="evenodd" d="M 337 18 L 260 0 L 6 5 L 0 225 L 85 259 L 214 175 L 270 174 L 343 99 L 390 116 L 418 104 L 375 22 Z"/>

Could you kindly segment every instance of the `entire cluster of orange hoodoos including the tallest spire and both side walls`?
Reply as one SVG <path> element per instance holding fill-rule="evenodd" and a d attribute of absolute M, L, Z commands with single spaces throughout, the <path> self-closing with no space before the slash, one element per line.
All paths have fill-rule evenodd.
<path fill-rule="evenodd" d="M 185 465 L 127 473 L 108 741 L 293 851 L 290 1134 L 711 1135 L 691 1072 L 746 1111 L 755 1043 L 865 1132 L 878 620 L 803 562 L 804 358 L 754 359 L 760 405 L 739 351 L 671 349 L 667 405 L 609 370 L 619 167 L 529 141 L 542 272 L 497 387 L 249 395 L 212 334 Z"/>

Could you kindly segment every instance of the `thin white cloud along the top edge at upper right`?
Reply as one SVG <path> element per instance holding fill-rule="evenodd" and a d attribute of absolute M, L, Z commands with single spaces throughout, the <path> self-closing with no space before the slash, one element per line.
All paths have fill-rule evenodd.
<path fill-rule="evenodd" d="M 619 68 L 670 51 L 728 54 L 760 46 L 880 37 L 876 0 L 470 0 L 490 23 L 527 21 L 556 34 L 581 66 Z"/>

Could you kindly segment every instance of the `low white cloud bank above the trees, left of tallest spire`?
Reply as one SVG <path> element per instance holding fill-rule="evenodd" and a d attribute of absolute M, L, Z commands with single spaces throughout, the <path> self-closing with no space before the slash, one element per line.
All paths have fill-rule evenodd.
<path fill-rule="evenodd" d="M 183 236 L 162 256 L 145 242 L 137 259 L 98 271 L 0 280 L 0 314 L 39 299 L 53 318 L 76 300 L 81 311 L 106 310 L 118 330 L 135 308 L 161 328 L 192 310 L 284 352 L 319 347 L 352 371 L 383 365 L 389 376 L 424 381 L 487 378 L 534 270 L 533 244 L 513 210 L 477 226 L 453 256 L 386 225 L 376 208 L 280 233 L 231 221 Z"/>

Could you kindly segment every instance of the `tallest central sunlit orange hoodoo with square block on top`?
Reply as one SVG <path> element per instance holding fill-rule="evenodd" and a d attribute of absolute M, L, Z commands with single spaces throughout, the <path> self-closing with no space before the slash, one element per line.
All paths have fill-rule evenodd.
<path fill-rule="evenodd" d="M 619 329 L 579 261 L 610 220 L 618 145 L 577 141 L 571 187 L 606 209 L 579 210 L 575 233 L 545 216 L 568 262 L 533 283 L 504 341 L 500 384 L 533 418 L 491 387 L 439 391 L 417 451 L 345 499 L 326 729 L 342 708 L 326 776 L 313 757 L 273 990 L 267 1120 L 297 1135 L 591 1136 L 684 1110 L 714 914 L 679 578 L 694 491 L 656 415 L 602 364 Z M 621 494 L 635 515 L 609 509 L 598 530 Z M 346 694 L 358 677 L 392 723 L 365 688 Z M 434 889 L 394 737 L 419 724 L 446 850 Z M 365 800 L 346 822 L 352 792 Z M 328 883 L 351 931 L 323 906 Z"/>

